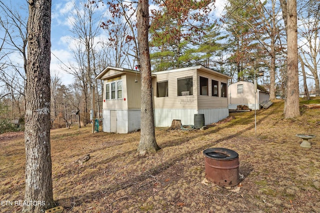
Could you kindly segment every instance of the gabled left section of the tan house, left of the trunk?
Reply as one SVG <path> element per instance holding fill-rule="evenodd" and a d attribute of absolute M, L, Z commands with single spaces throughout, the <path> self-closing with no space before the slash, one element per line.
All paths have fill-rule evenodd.
<path fill-rule="evenodd" d="M 95 78 L 103 80 L 102 131 L 128 133 L 140 129 L 139 72 L 108 66 Z"/>

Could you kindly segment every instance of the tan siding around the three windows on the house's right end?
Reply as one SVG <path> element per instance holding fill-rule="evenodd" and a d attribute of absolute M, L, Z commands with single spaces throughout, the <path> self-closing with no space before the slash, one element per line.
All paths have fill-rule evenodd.
<path fill-rule="evenodd" d="M 199 76 L 208 78 L 208 95 L 200 94 Z M 212 96 L 211 80 L 218 81 L 218 97 Z M 197 94 L 198 94 L 198 109 L 212 109 L 212 108 L 227 108 L 228 100 L 226 97 L 221 97 L 221 82 L 227 83 L 227 78 L 215 73 L 197 72 Z M 228 93 L 227 93 L 228 94 Z"/>

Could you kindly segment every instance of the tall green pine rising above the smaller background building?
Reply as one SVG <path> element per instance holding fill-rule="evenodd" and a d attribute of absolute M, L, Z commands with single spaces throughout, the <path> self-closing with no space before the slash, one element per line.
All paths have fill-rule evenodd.
<path fill-rule="evenodd" d="M 260 22 L 257 9 L 253 1 L 229 0 L 226 11 L 224 25 L 229 32 L 227 46 L 231 52 L 228 60 L 236 68 L 238 81 L 252 80 L 253 61 L 262 57 L 254 30 Z"/>

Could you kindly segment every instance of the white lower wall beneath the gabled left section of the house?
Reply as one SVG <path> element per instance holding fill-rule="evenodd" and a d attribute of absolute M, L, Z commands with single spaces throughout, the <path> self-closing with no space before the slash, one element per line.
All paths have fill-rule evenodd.
<path fill-rule="evenodd" d="M 111 111 L 115 111 L 116 119 L 111 121 Z M 115 133 L 128 133 L 140 129 L 140 110 L 102 110 L 103 132 L 111 132 L 111 122 L 116 122 Z"/>

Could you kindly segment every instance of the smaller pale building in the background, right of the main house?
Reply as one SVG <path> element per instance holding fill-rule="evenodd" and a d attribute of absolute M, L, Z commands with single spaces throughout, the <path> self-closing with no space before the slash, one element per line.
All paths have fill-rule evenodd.
<path fill-rule="evenodd" d="M 228 107 L 235 110 L 237 105 L 246 105 L 252 110 L 258 110 L 261 103 L 269 100 L 269 96 L 269 92 L 261 85 L 257 85 L 257 91 L 254 93 L 252 82 L 238 81 L 228 86 Z"/>

